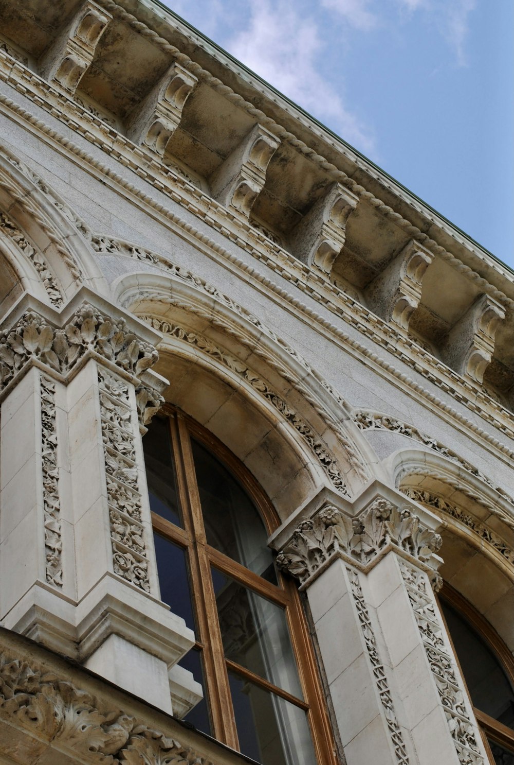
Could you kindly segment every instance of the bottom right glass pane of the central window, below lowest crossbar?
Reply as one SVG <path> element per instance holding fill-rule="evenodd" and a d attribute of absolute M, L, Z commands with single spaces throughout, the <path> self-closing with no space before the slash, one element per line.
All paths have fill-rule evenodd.
<path fill-rule="evenodd" d="M 263 765 L 315 763 L 305 712 L 228 672 L 241 752 Z"/>

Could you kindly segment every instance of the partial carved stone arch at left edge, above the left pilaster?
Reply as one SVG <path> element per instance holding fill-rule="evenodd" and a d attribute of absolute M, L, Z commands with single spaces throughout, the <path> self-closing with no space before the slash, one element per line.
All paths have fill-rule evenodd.
<path fill-rule="evenodd" d="M 57 309 L 81 285 L 105 294 L 89 229 L 7 148 L 0 148 L 0 229 L 15 291 L 29 290 Z"/>

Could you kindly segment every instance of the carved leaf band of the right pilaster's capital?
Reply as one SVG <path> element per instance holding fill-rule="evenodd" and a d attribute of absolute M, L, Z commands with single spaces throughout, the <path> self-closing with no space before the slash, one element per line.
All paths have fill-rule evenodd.
<path fill-rule="evenodd" d="M 423 526 L 410 509 L 399 509 L 381 497 L 353 519 L 327 505 L 300 523 L 276 563 L 305 584 L 335 555 L 365 568 L 390 545 L 427 562 L 438 552 L 441 536 Z"/>

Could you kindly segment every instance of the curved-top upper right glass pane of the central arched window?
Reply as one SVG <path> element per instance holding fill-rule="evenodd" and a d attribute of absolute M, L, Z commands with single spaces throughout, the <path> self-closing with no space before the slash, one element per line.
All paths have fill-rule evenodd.
<path fill-rule="evenodd" d="M 276 584 L 266 529 L 254 503 L 210 451 L 194 439 L 191 444 L 207 542 Z"/>

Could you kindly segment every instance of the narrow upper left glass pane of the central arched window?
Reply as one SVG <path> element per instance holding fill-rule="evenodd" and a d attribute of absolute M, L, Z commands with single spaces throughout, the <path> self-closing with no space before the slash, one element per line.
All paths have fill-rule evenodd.
<path fill-rule="evenodd" d="M 143 438 L 143 448 L 150 509 L 176 526 L 182 526 L 168 420 L 157 418 L 152 422 Z"/>

